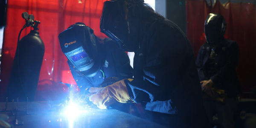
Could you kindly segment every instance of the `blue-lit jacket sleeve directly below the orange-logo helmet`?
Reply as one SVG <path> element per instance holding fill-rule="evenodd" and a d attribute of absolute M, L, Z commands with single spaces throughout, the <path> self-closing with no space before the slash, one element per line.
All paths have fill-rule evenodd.
<path fill-rule="evenodd" d="M 93 87 L 92 81 L 90 81 L 90 79 L 88 79 L 87 77 L 76 73 L 76 69 L 71 64 L 70 61 L 67 61 L 67 63 L 70 67 L 71 74 L 72 74 L 73 78 L 75 79 L 77 86 L 80 89 L 80 93 L 82 93 L 82 94 L 89 93 L 90 87 Z"/>

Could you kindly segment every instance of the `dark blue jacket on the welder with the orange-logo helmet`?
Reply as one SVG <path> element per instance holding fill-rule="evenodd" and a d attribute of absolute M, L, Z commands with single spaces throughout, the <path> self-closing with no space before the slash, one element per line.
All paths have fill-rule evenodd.
<path fill-rule="evenodd" d="M 99 87 L 99 85 L 108 77 L 117 77 L 118 79 L 132 78 L 132 67 L 130 65 L 130 59 L 125 51 L 119 49 L 112 40 L 108 39 L 101 44 L 100 47 L 102 59 L 102 71 L 99 71 L 96 76 L 85 77 L 82 74 L 76 72 L 74 66 L 68 61 L 73 78 L 76 84 L 80 88 L 80 93 L 88 93 L 90 87 Z M 103 76 L 103 73 L 104 76 Z"/>

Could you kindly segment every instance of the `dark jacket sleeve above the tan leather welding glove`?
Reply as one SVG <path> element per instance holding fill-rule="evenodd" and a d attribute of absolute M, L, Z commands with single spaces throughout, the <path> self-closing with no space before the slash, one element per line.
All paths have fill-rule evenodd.
<path fill-rule="evenodd" d="M 144 38 L 147 41 L 147 55 L 143 77 L 134 77 L 133 81 L 128 82 L 128 91 L 132 91 L 129 95 L 137 103 L 168 100 L 167 96 L 182 80 L 180 70 L 186 63 L 189 50 L 192 50 L 180 29 L 165 24 L 155 28 Z M 189 57 L 194 60 L 193 53 Z"/>

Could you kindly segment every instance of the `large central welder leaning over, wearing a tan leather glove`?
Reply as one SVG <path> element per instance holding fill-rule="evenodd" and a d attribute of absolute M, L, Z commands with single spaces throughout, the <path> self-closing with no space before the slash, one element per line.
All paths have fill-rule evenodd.
<path fill-rule="evenodd" d="M 134 55 L 134 79 L 91 87 L 101 109 L 114 102 L 136 102 L 147 119 L 171 128 L 208 128 L 200 81 L 189 40 L 144 0 L 104 3 L 101 32 Z"/>

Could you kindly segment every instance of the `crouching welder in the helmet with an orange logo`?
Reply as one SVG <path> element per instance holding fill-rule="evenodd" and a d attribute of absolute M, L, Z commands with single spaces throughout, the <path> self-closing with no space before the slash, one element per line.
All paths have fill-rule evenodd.
<path fill-rule="evenodd" d="M 132 78 L 130 59 L 110 38 L 98 38 L 93 29 L 78 22 L 58 36 L 62 52 L 80 93 Z"/>

